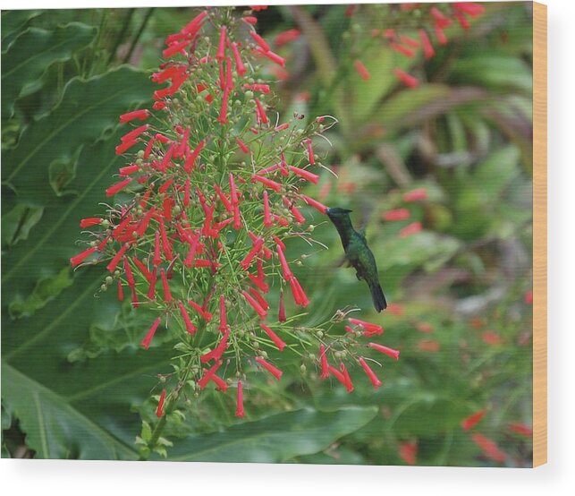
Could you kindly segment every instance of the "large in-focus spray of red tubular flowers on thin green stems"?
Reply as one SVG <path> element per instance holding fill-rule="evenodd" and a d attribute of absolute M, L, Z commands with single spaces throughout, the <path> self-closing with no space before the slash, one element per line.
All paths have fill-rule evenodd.
<path fill-rule="evenodd" d="M 246 372 L 282 377 L 268 351 L 292 350 L 348 391 L 350 364 L 381 385 L 368 364 L 375 362 L 370 350 L 399 356 L 369 340 L 383 333 L 380 326 L 349 312 L 313 329 L 288 315 L 284 295 L 302 309 L 309 297 L 293 271 L 303 257 L 290 260 L 286 244 L 309 240 L 309 216 L 325 213 L 301 187 L 317 184 L 326 169 L 314 141 L 336 121 L 326 115 L 303 124 L 294 115 L 280 122 L 268 81 L 256 74 L 259 59 L 280 66 L 284 60 L 258 35 L 256 22 L 214 8 L 166 38 L 165 62 L 152 74 L 160 85 L 154 105 L 120 116 L 132 129 L 116 147 L 126 165 L 106 190 L 117 202 L 105 216 L 80 221 L 89 247 L 72 266 L 105 262 L 102 290 L 114 285 L 120 301 L 156 312 L 142 332 L 150 353 L 158 340 L 177 341 L 160 417 L 182 395 L 230 387 L 235 414 L 243 416 Z"/>

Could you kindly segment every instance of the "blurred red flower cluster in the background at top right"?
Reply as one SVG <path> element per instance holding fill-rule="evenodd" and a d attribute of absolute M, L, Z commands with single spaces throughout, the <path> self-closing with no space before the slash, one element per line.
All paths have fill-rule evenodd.
<path fill-rule="evenodd" d="M 478 18 L 485 11 L 483 5 L 475 2 L 453 2 L 444 5 L 399 4 L 399 9 L 404 13 L 418 11 L 418 26 L 413 26 L 410 34 L 400 33 L 398 30 L 390 28 L 372 30 L 371 35 L 375 38 L 384 38 L 386 44 L 402 56 L 414 58 L 423 54 L 426 60 L 435 56 L 434 42 L 440 46 L 447 44 L 446 29 L 459 23 L 462 29 L 469 30 L 471 27 L 470 20 Z M 361 61 L 356 60 L 354 66 L 362 79 L 369 79 L 368 69 Z M 419 79 L 405 72 L 401 67 L 395 67 L 393 73 L 408 88 L 419 86 Z"/>

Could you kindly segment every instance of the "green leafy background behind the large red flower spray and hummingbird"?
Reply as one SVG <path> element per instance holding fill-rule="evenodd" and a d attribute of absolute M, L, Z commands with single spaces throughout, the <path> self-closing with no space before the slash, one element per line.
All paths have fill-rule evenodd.
<path fill-rule="evenodd" d="M 377 368 L 374 391 L 361 371 L 356 390 L 300 372 L 254 378 L 245 422 L 233 398 L 202 395 L 168 419 L 167 459 L 403 464 L 416 443 L 420 465 L 495 465 L 461 421 L 486 408 L 476 430 L 530 466 L 531 442 L 510 430 L 530 425 L 532 271 L 532 36 L 527 3 L 488 4 L 470 30 L 447 30 L 435 57 L 403 57 L 373 30 L 417 33 L 397 6 L 275 6 L 258 13 L 266 38 L 302 36 L 278 52 L 289 77 L 276 110 L 335 115 L 333 168 L 309 193 L 354 210 L 392 308 L 362 314 L 385 327 L 401 360 Z M 104 275 L 69 269 L 78 220 L 98 202 L 121 161 L 117 116 L 149 105 L 149 70 L 169 33 L 193 11 L 111 9 L 2 13 L 2 456 L 137 458 L 147 435 L 140 415 L 156 374 L 169 372 L 170 346 L 138 348 L 146 316 L 94 297 Z M 360 59 L 371 73 L 353 69 Z M 130 64 L 130 66 L 126 65 Z M 408 89 L 393 74 L 415 74 Z M 264 77 L 271 77 L 267 66 Z M 426 197 L 406 201 L 405 193 Z M 384 219 L 407 209 L 409 218 Z M 309 324 L 335 309 L 371 308 L 330 225 L 307 212 L 315 238 L 292 240 L 297 274 L 312 304 Z M 422 229 L 403 235 L 419 222 Z M 372 311 L 370 311 L 372 312 Z M 283 360 L 283 361 L 282 361 Z M 357 379 L 357 380 L 356 380 Z M 173 443 L 173 448 L 170 444 Z M 22 449 L 23 447 L 23 449 Z M 161 453 L 160 453 L 161 455 Z"/>

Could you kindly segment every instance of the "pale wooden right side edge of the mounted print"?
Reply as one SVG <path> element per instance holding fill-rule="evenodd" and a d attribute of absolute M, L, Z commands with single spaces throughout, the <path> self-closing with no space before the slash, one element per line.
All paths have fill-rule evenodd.
<path fill-rule="evenodd" d="M 533 3 L 533 466 L 547 462 L 547 6 Z"/>

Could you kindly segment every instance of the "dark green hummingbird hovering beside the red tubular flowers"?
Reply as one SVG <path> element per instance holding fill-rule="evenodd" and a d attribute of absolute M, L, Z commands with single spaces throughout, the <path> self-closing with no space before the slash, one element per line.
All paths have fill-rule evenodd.
<path fill-rule="evenodd" d="M 326 214 L 334 223 L 342 239 L 345 258 L 356 270 L 358 279 L 363 279 L 368 283 L 376 311 L 381 312 L 387 307 L 387 302 L 385 301 L 384 291 L 379 285 L 376 259 L 368 247 L 366 236 L 356 231 L 351 225 L 351 211 L 334 207 L 327 209 Z"/>

